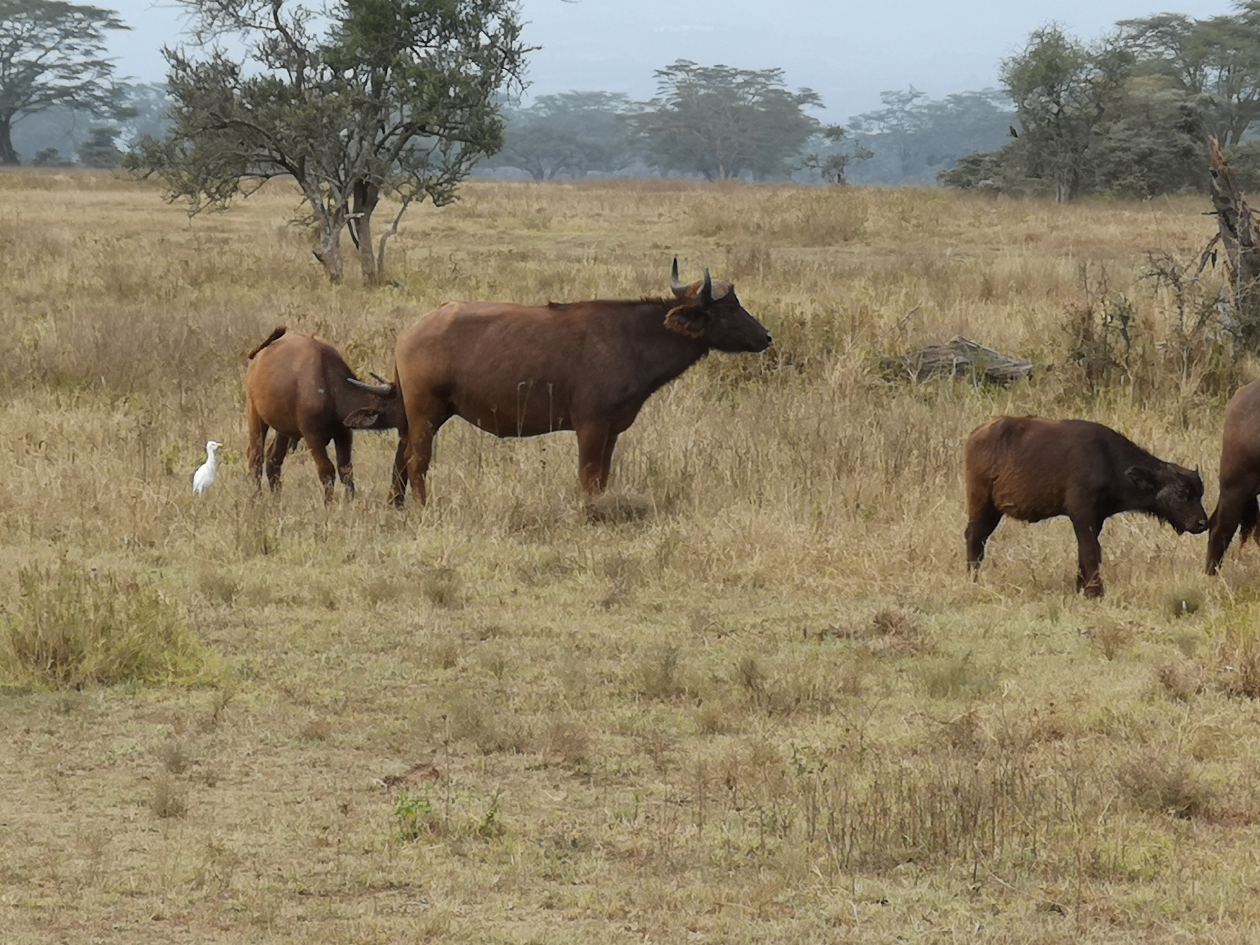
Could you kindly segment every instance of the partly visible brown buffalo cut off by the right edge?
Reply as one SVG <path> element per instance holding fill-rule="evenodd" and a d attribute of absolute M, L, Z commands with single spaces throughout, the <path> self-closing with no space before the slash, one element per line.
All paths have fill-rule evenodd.
<path fill-rule="evenodd" d="M 1207 536 L 1207 573 L 1215 575 L 1221 558 L 1242 527 L 1242 541 L 1260 538 L 1260 381 L 1240 387 L 1225 408 L 1221 442 L 1221 498 Z"/>

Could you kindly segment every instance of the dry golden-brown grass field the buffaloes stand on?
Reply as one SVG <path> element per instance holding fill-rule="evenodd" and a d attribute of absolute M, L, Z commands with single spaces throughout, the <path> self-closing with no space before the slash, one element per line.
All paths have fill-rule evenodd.
<path fill-rule="evenodd" d="M 110 175 L 0 192 L 5 941 L 1260 934 L 1260 553 L 1208 578 L 1206 536 L 1120 515 L 1092 602 L 1066 519 L 1007 520 L 964 567 L 995 413 L 1114 426 L 1215 507 L 1260 365 L 1193 280 L 1206 198 L 470 183 L 373 289 L 281 184 L 192 220 Z M 667 295 L 675 255 L 775 344 L 648 402 L 606 520 L 572 433 L 460 420 L 427 508 L 386 503 L 392 433 L 353 503 L 305 450 L 249 481 L 277 324 L 388 374 L 444 301 Z M 955 334 L 1032 381 L 881 364 Z"/>

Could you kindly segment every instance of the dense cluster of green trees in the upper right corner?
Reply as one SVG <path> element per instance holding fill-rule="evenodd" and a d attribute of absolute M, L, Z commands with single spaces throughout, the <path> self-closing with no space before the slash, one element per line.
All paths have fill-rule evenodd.
<path fill-rule="evenodd" d="M 942 184 L 1060 200 L 1202 190 L 1210 137 L 1260 184 L 1260 0 L 1202 20 L 1121 20 L 1092 43 L 1045 26 L 1002 64 L 1002 86 L 1009 140 L 961 158 Z"/>

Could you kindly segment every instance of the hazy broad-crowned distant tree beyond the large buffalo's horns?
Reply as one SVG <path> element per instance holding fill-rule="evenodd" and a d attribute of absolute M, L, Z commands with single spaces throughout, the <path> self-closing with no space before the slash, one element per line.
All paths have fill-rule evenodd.
<path fill-rule="evenodd" d="M 648 152 L 665 170 L 706 180 L 789 173 L 819 122 L 805 108 L 823 107 L 818 93 L 784 84 L 782 69 L 697 66 L 679 59 L 656 71 L 658 94 L 631 118 Z"/>

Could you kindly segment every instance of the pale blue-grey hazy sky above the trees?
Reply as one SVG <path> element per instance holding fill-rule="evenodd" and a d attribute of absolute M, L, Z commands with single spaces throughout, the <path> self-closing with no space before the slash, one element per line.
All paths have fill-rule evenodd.
<path fill-rule="evenodd" d="M 96 0 L 130 33 L 111 52 L 121 74 L 160 81 L 164 43 L 179 43 L 171 0 Z M 915 86 L 932 97 L 998 84 L 998 64 L 1050 20 L 1092 39 L 1116 20 L 1173 9 L 1227 13 L 1227 0 L 524 0 L 529 96 L 568 89 L 650 98 L 653 71 L 675 59 L 745 69 L 781 67 L 789 84 L 823 96 L 820 118 L 843 122 L 878 107 L 879 92 Z"/>

